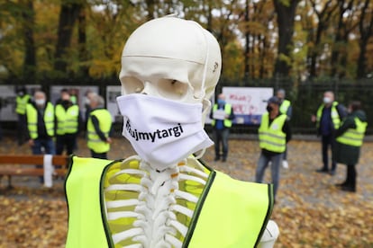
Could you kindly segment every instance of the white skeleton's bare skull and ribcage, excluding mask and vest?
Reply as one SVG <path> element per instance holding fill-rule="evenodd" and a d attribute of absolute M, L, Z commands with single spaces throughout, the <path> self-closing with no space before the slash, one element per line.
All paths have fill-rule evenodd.
<path fill-rule="evenodd" d="M 202 103 L 203 126 L 221 65 L 218 42 L 198 23 L 172 16 L 155 19 L 141 25 L 126 42 L 120 73 L 122 92 Z M 180 183 L 193 182 L 199 190 L 205 187 L 209 174 L 197 161 L 202 155 L 160 165 L 134 155 L 106 174 L 105 208 L 114 244 L 182 246 L 198 195 L 182 190 Z M 132 176 L 132 182 L 126 175 Z M 265 234 L 262 240 L 266 238 Z"/>

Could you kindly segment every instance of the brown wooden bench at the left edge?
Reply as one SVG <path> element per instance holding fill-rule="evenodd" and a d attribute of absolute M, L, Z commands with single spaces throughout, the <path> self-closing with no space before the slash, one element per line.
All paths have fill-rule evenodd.
<path fill-rule="evenodd" d="M 37 168 L 35 164 L 41 164 Z M 12 176 L 43 176 L 44 155 L 0 155 L 0 177 L 8 177 L 8 188 L 12 188 Z M 53 155 L 51 164 L 59 165 L 54 169 L 53 176 L 65 176 L 67 173 L 68 156 Z"/>

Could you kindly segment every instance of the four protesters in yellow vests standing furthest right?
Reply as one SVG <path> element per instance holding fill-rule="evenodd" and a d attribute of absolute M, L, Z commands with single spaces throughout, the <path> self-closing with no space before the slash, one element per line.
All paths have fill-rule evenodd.
<path fill-rule="evenodd" d="M 288 168 L 287 142 L 291 139 L 291 102 L 284 100 L 284 97 L 285 91 L 280 89 L 276 96 L 268 99 L 267 111 L 263 114 L 259 127 L 261 153 L 255 181 L 263 181 L 264 171 L 270 165 L 275 197 L 279 185 L 280 164 Z M 335 101 L 332 91 L 326 91 L 323 93 L 323 102 L 311 120 L 315 123 L 317 136 L 322 143 L 323 166 L 316 172 L 334 175 L 337 164 L 345 164 L 346 179 L 335 186 L 344 191 L 356 192 L 356 164 L 359 163 L 360 146 L 368 125 L 361 102 L 352 101 L 346 108 Z"/>

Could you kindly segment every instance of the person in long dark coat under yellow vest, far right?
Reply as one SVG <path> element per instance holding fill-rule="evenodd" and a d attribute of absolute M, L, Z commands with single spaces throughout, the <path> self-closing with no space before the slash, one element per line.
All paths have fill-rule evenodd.
<path fill-rule="evenodd" d="M 337 163 L 347 165 L 346 179 L 337 184 L 341 190 L 356 191 L 356 164 L 359 163 L 360 147 L 367 129 L 367 116 L 361 110 L 361 102 L 350 102 L 348 116 L 335 132 L 336 144 L 334 158 Z"/>

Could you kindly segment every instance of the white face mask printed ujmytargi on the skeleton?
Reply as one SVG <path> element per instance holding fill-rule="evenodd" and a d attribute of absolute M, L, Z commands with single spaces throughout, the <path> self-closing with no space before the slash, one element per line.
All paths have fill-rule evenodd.
<path fill-rule="evenodd" d="M 152 167 L 163 170 L 214 143 L 202 125 L 202 104 L 134 93 L 117 97 L 123 136 Z"/>

